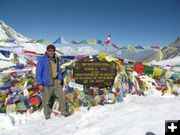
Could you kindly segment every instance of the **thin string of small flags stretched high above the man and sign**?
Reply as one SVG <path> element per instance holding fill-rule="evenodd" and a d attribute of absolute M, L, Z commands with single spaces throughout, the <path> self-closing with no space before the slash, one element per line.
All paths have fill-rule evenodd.
<path fill-rule="evenodd" d="M 77 40 L 70 40 L 70 41 L 67 41 L 65 40 L 63 37 L 60 37 L 58 38 L 56 41 L 54 42 L 51 42 L 47 39 L 40 39 L 40 40 L 28 40 L 28 41 L 17 41 L 15 39 L 0 39 L 0 46 L 2 43 L 12 43 L 12 44 L 17 44 L 17 43 L 41 43 L 41 44 L 45 44 L 45 45 L 48 45 L 48 44 L 74 44 L 74 45 L 79 45 L 79 44 L 88 44 L 88 45 L 102 45 L 102 46 L 108 46 L 110 45 L 111 43 L 111 33 L 107 36 L 106 40 L 103 42 L 102 40 L 100 39 L 84 39 L 84 40 L 81 40 L 81 41 L 77 41 Z M 128 45 L 128 46 L 118 46 L 116 45 L 115 43 L 112 43 L 111 46 L 117 50 L 129 50 L 129 51 L 135 51 L 135 50 L 138 50 L 138 49 L 146 49 L 146 48 L 151 48 L 151 49 L 161 49 L 160 46 L 157 46 L 157 45 L 151 45 L 151 46 L 141 46 L 141 45 L 138 45 L 138 46 L 133 46 L 133 45 Z M 165 48 L 168 48 L 168 49 L 179 49 L 180 48 L 180 44 L 177 44 L 175 46 L 166 46 L 162 49 L 165 49 Z"/>

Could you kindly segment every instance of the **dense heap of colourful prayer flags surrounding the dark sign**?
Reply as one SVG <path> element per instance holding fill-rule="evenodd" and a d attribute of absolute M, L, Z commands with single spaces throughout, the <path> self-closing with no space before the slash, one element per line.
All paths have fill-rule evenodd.
<path fill-rule="evenodd" d="M 86 61 L 89 57 L 86 57 Z M 114 62 L 117 64 L 117 75 L 114 78 L 112 88 L 87 87 L 83 84 L 74 82 L 73 65 L 77 61 L 66 62 L 63 64 L 64 71 L 64 93 L 67 112 L 73 114 L 80 111 L 80 107 L 90 107 L 105 104 L 122 102 L 127 94 L 147 96 L 148 91 L 153 92 L 155 88 L 164 94 L 173 94 L 171 86 L 178 83 L 179 73 L 169 74 L 162 68 L 151 67 L 138 62 L 126 62 L 107 54 L 99 54 L 91 58 L 93 61 Z M 30 65 L 28 65 L 30 66 Z M 34 79 L 35 71 L 27 65 L 17 64 L 13 72 L 7 75 L 0 75 L 0 113 L 9 114 L 11 112 L 29 114 L 40 110 L 42 98 L 39 87 Z M 138 74 L 136 74 L 136 72 Z M 144 75 L 142 75 L 144 74 Z M 148 75 L 148 76 L 147 76 Z M 164 78 L 164 76 L 167 76 Z M 153 78 L 154 79 L 153 79 Z M 172 84 L 170 84 L 171 81 Z M 155 89 L 154 89 L 155 90 Z"/>

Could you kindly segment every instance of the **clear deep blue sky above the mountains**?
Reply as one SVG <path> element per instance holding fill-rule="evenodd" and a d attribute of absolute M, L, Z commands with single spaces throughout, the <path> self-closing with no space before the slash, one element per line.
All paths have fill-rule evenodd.
<path fill-rule="evenodd" d="M 0 0 L 0 20 L 32 39 L 166 46 L 180 36 L 179 0 Z"/>

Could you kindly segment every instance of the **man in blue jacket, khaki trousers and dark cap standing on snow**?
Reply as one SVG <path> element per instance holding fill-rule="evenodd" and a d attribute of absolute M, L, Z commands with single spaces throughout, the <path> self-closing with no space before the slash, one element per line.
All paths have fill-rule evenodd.
<path fill-rule="evenodd" d="M 65 111 L 65 96 L 62 90 L 63 77 L 55 51 L 54 45 L 48 45 L 45 55 L 39 58 L 36 68 L 36 81 L 42 92 L 45 119 L 49 119 L 51 115 L 50 99 L 52 95 L 58 99 L 61 114 L 68 116 Z"/>

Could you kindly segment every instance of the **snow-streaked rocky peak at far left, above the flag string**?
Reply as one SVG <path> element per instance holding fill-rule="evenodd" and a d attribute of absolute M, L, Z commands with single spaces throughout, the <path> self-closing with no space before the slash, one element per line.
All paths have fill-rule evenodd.
<path fill-rule="evenodd" d="M 14 29 L 6 25 L 3 21 L 0 20 L 0 40 L 1 39 L 15 39 L 18 41 L 28 41 L 31 40 L 23 36 L 22 34 L 16 32 Z"/>

